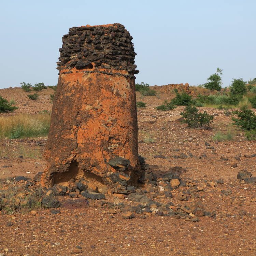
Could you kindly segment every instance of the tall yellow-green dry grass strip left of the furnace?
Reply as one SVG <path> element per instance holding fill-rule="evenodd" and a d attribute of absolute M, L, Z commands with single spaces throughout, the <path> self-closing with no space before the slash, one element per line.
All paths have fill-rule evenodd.
<path fill-rule="evenodd" d="M 18 139 L 47 136 L 49 114 L 18 114 L 0 117 L 0 138 Z"/>

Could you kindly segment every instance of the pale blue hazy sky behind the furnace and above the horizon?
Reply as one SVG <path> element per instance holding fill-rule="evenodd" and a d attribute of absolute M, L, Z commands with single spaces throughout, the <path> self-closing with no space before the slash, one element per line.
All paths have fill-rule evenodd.
<path fill-rule="evenodd" d="M 62 35 L 73 26 L 109 23 L 123 24 L 133 37 L 136 82 L 197 85 L 217 67 L 223 86 L 256 77 L 255 0 L 9 0 L 0 6 L 0 88 L 57 84 Z"/>

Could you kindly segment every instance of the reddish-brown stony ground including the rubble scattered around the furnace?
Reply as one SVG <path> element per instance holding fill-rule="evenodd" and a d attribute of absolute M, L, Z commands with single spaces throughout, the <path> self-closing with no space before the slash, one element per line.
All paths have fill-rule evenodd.
<path fill-rule="evenodd" d="M 12 97 L 19 107 L 28 102 L 15 113 L 51 110 L 52 89 L 39 92 L 37 103 L 20 89 L 5 90 L 10 91 L 0 90 L 0 95 Z M 200 108 L 215 115 L 212 129 L 188 128 L 178 120 L 183 107 L 155 110 L 166 97 L 137 95 L 147 103 L 138 109 L 139 153 L 150 165 L 153 181 L 124 198 L 106 193 L 94 200 L 76 187 L 75 199 L 70 191 L 56 195 L 61 205 L 51 206 L 57 210 L 47 205 L 18 213 L 2 210 L 0 255 L 256 255 L 255 143 L 244 139 L 223 110 Z M 227 129 L 232 141 L 213 141 L 214 134 Z M 21 205 L 28 195 L 42 200 L 46 193 L 56 194 L 41 195 L 36 181 L 6 181 L 43 171 L 46 140 L 0 141 L 1 187 L 18 195 L 14 204 Z M 237 179 L 244 169 L 252 177 L 245 173 Z M 177 176 L 163 176 L 170 172 Z"/>

